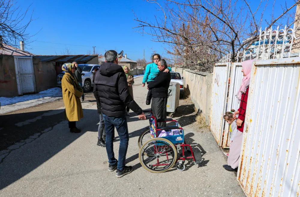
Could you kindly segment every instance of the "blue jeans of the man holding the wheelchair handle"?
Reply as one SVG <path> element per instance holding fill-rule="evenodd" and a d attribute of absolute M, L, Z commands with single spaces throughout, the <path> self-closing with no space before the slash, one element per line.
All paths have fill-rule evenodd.
<path fill-rule="evenodd" d="M 103 114 L 105 131 L 106 131 L 106 152 L 108 156 L 108 162 L 111 166 L 116 165 L 115 153 L 113 152 L 113 137 L 115 136 L 115 127 L 119 134 L 120 146 L 119 146 L 119 161 L 117 169 L 122 171 L 125 167 L 126 154 L 128 149 L 128 127 L 126 116 L 121 116 L 118 118 L 109 117 Z"/>

